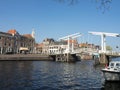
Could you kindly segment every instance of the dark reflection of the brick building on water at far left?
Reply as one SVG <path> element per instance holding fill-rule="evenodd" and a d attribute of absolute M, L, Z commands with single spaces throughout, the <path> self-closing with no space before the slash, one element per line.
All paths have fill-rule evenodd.
<path fill-rule="evenodd" d="M 0 90 L 22 90 L 31 86 L 32 67 L 31 62 L 0 62 Z"/>

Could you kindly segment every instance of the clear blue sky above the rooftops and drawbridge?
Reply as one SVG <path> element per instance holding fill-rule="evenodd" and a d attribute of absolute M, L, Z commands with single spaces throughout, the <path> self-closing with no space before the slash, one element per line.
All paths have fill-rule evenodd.
<path fill-rule="evenodd" d="M 16 29 L 29 34 L 34 29 L 38 43 L 80 32 L 79 42 L 100 44 L 100 36 L 88 31 L 120 33 L 120 0 L 112 0 L 104 13 L 99 6 L 95 0 L 79 0 L 73 5 L 56 0 L 0 0 L 0 31 Z M 120 46 L 120 38 L 106 39 L 107 44 Z"/>

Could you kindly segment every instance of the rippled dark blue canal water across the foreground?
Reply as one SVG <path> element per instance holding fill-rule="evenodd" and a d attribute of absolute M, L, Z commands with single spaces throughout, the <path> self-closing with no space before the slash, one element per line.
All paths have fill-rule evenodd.
<path fill-rule="evenodd" d="M 1 61 L 0 90 L 120 90 L 106 83 L 94 61 Z"/>

